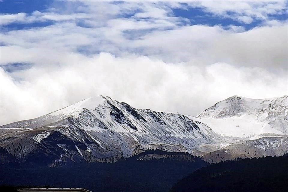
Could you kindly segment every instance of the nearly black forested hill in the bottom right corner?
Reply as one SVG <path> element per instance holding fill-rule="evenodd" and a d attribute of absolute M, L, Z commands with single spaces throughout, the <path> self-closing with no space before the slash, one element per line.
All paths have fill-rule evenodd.
<path fill-rule="evenodd" d="M 265 157 L 212 164 L 173 186 L 171 192 L 288 191 L 288 157 Z"/>

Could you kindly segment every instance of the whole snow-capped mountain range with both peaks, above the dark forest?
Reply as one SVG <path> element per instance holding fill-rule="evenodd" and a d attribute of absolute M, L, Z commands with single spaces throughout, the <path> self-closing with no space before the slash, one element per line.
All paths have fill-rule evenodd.
<path fill-rule="evenodd" d="M 203 155 L 251 138 L 286 137 L 287 98 L 233 96 L 197 117 L 136 109 L 109 97 L 88 98 L 36 119 L 1 126 L 0 147 L 6 151 L 2 159 L 44 158 L 50 165 L 107 162 L 147 149 Z"/>

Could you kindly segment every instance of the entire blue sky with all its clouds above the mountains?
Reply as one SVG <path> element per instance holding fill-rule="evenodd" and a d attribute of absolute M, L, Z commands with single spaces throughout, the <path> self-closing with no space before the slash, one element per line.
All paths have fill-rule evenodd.
<path fill-rule="evenodd" d="M 191 115 L 286 95 L 287 34 L 281 0 L 0 0 L 0 125 L 95 95 Z"/>

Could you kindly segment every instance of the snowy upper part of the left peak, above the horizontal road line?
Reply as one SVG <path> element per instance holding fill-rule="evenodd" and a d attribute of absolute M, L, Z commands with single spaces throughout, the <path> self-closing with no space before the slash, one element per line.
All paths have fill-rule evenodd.
<path fill-rule="evenodd" d="M 69 121 L 68 121 L 69 120 Z M 15 122 L 1 128 L 39 128 L 76 125 L 85 131 L 137 132 L 174 137 L 211 137 L 211 130 L 178 113 L 135 109 L 109 97 L 94 97 L 72 104 L 36 119 Z"/>

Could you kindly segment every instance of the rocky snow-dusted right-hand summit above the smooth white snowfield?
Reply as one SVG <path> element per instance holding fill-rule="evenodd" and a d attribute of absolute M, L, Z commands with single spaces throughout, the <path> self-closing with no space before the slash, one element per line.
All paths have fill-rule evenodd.
<path fill-rule="evenodd" d="M 233 96 L 200 113 L 201 119 L 241 119 L 288 134 L 288 95 L 279 98 L 249 99 Z"/>

